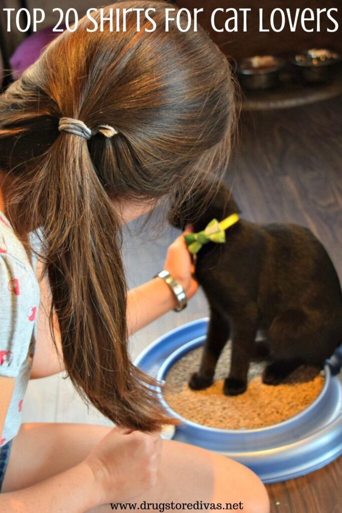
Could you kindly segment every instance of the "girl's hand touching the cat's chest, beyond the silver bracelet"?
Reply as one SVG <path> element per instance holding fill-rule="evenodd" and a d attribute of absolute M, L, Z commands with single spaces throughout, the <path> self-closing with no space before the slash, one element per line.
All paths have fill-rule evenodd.
<path fill-rule="evenodd" d="M 195 265 L 184 240 L 184 235 L 192 232 L 192 226 L 186 226 L 182 235 L 179 235 L 169 246 L 164 264 L 164 269 L 168 270 L 172 277 L 182 285 L 188 299 L 190 299 L 198 289 L 198 283 L 193 277 Z"/>

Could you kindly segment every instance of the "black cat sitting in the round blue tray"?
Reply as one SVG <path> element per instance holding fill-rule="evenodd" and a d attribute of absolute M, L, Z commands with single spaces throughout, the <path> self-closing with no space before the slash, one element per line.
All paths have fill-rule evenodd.
<path fill-rule="evenodd" d="M 169 222 L 194 232 L 213 219 L 239 212 L 221 185 L 206 201 L 209 183 L 199 187 Z M 226 230 L 226 242 L 209 242 L 196 255 L 195 277 L 210 307 L 202 361 L 189 386 L 213 383 L 218 357 L 232 338 L 231 368 L 224 393 L 247 388 L 251 359 L 269 360 L 263 382 L 276 385 L 303 363 L 323 366 L 342 342 L 342 292 L 323 245 L 307 228 L 294 224 L 256 224 L 239 220 Z M 262 329 L 264 344 L 255 342 Z"/>

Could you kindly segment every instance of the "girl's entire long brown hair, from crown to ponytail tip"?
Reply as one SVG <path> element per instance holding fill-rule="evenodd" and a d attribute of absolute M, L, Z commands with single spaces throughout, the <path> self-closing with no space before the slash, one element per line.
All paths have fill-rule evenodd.
<path fill-rule="evenodd" d="M 81 396 L 117 425 L 145 431 L 170 422 L 156 382 L 127 351 L 126 281 L 120 222 L 110 198 L 184 199 L 200 177 L 222 177 L 235 120 L 225 56 L 204 30 L 75 32 L 56 38 L 0 96 L 0 167 L 15 177 L 7 212 L 16 232 L 43 228 L 45 262 L 61 329 L 63 357 Z M 107 27 L 107 30 L 106 30 Z M 149 22 L 146 27 L 150 28 Z M 88 127 L 114 127 L 90 140 L 58 131 L 67 116 Z M 53 334 L 53 333 L 52 333 Z"/>

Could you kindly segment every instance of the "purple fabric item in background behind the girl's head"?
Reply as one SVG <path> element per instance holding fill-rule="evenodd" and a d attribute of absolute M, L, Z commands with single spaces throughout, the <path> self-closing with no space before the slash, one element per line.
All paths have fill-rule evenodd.
<path fill-rule="evenodd" d="M 65 27 L 61 28 L 65 29 Z M 12 75 L 14 80 L 19 78 L 22 72 L 31 66 L 42 50 L 46 47 L 50 41 L 62 32 L 52 32 L 53 27 L 47 27 L 39 32 L 35 32 L 29 35 L 14 51 L 10 57 L 10 65 L 12 69 Z"/>

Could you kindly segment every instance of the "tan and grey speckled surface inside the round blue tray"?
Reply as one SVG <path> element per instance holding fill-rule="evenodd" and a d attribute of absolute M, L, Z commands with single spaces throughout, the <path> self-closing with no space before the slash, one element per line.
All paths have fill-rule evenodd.
<path fill-rule="evenodd" d="M 189 351 L 168 371 L 164 398 L 182 417 L 220 429 L 253 429 L 283 422 L 307 408 L 319 395 L 324 377 L 318 367 L 301 365 L 279 385 L 265 385 L 261 373 L 265 362 L 252 362 L 248 388 L 239 396 L 223 393 L 230 368 L 229 342 L 216 367 L 215 381 L 205 390 L 191 390 L 188 380 L 199 368 L 202 348 Z"/>

